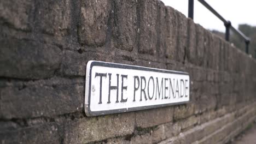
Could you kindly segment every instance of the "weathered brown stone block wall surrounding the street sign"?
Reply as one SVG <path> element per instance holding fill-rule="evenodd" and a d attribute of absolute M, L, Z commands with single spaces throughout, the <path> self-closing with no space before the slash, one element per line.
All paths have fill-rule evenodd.
<path fill-rule="evenodd" d="M 225 143 L 255 119 L 256 61 L 160 1 L 0 1 L 1 143 Z M 89 60 L 187 71 L 188 104 L 86 117 Z"/>

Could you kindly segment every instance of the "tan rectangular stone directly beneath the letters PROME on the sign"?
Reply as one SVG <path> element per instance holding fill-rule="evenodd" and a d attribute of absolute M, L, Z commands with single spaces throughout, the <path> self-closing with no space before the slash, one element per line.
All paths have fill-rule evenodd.
<path fill-rule="evenodd" d="M 154 125 L 172 122 L 173 107 L 138 111 L 135 113 L 135 116 L 136 127 L 153 127 Z"/>

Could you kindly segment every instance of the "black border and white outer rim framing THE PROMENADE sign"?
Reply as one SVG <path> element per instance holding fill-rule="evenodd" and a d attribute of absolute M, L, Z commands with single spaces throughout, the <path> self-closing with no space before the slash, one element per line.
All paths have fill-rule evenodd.
<path fill-rule="evenodd" d="M 100 116 L 100 115 L 108 115 L 113 113 L 121 113 L 121 112 L 130 112 L 130 111 L 138 111 L 138 110 L 147 110 L 147 109 L 154 109 L 158 107 L 165 107 L 171 105 L 178 105 L 178 104 L 187 104 L 188 101 L 182 101 L 178 103 L 170 103 L 170 104 L 159 104 L 159 105 L 149 105 L 149 106 L 138 106 L 138 107 L 131 107 L 131 108 L 124 108 L 124 109 L 115 109 L 115 110 L 105 110 L 105 111 L 91 111 L 90 109 L 90 98 L 91 98 L 91 70 L 94 66 L 101 66 L 101 67 L 108 67 L 108 68 L 121 68 L 121 69 L 134 69 L 134 70 L 144 70 L 144 71 L 154 71 L 159 73 L 168 73 L 168 74 L 181 74 L 181 75 L 188 75 L 187 72 L 182 71 L 174 71 L 174 70 L 165 70 L 165 69 L 156 69 L 156 68 L 149 68 L 149 67 L 141 67 L 136 65 L 128 65 L 128 64 L 118 64 L 118 63 L 109 63 L 109 62 L 102 62 L 102 61 L 89 61 L 86 65 L 86 76 L 85 76 L 85 100 L 84 100 L 84 110 L 86 116 Z M 190 76 L 189 76 L 190 81 Z M 190 97 L 190 96 L 189 96 Z"/>

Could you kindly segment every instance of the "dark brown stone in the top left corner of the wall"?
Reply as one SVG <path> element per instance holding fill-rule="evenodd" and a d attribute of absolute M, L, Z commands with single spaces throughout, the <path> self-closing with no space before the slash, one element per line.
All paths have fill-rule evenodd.
<path fill-rule="evenodd" d="M 30 0 L 22 1 L 1 1 L 0 2 L 0 23 L 7 24 L 15 29 L 23 31 L 30 30 L 29 16 L 32 10 Z"/>

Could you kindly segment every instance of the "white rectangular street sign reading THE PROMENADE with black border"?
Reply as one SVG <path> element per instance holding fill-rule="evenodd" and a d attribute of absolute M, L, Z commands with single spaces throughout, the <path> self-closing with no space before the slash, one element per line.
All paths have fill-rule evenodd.
<path fill-rule="evenodd" d="M 87 116 L 153 109 L 188 101 L 188 73 L 99 61 L 87 64 Z"/>

